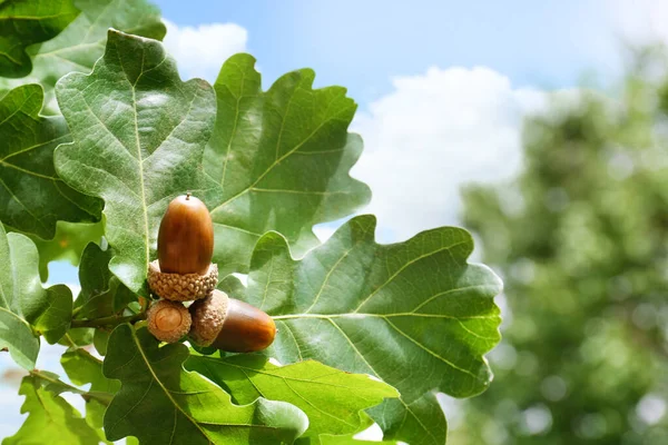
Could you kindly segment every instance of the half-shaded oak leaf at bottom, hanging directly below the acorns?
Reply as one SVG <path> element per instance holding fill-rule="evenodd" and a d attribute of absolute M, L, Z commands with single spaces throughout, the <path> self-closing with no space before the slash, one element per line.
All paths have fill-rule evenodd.
<path fill-rule="evenodd" d="M 121 380 L 105 414 L 109 441 L 132 435 L 141 444 L 291 444 L 306 415 L 284 402 L 237 406 L 219 387 L 183 368 L 188 348 L 158 347 L 146 328 L 120 325 L 109 338 L 102 370 Z"/>

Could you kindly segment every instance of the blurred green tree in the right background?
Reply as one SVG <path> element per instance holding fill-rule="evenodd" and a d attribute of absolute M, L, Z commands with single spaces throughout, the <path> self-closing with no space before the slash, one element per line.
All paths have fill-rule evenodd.
<path fill-rule="evenodd" d="M 463 191 L 509 312 L 451 443 L 668 444 L 668 65 L 635 60 L 620 98 L 527 120 L 517 180 Z"/>

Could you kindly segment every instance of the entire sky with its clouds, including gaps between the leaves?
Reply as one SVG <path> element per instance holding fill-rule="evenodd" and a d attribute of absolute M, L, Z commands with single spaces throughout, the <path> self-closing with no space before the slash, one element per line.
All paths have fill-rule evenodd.
<path fill-rule="evenodd" d="M 257 58 L 265 88 L 297 68 L 358 103 L 365 150 L 352 175 L 373 190 L 381 241 L 456 225 L 459 188 L 522 165 L 522 119 L 580 88 L 615 91 L 628 44 L 668 41 L 662 0 L 159 0 L 165 44 L 184 79 L 214 81 L 235 52 Z M 336 224 L 322 225 L 325 239 Z M 77 288 L 76 269 L 51 264 Z M 38 366 L 60 370 L 55 347 Z M 0 373 L 13 369 L 0 354 Z M 0 382 L 0 437 L 22 418 L 18 379 Z M 72 402 L 81 407 L 80 400 Z M 374 437 L 376 433 L 370 433 Z"/>

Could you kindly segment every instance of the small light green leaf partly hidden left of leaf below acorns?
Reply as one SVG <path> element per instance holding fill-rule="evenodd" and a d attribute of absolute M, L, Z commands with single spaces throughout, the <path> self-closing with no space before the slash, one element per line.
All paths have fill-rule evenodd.
<path fill-rule="evenodd" d="M 86 349 L 76 348 L 66 352 L 60 357 L 60 364 L 67 376 L 75 385 L 90 384 L 90 392 L 96 397 L 86 399 L 86 418 L 91 426 L 102 427 L 102 417 L 112 396 L 120 389 L 120 383 L 105 377 L 102 362 Z"/>

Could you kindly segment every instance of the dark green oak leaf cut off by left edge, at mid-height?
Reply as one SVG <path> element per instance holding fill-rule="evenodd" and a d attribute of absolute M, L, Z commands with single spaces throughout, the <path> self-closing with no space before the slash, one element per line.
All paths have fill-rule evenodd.
<path fill-rule="evenodd" d="M 53 149 L 71 138 L 65 119 L 39 116 L 42 98 L 39 85 L 26 85 L 0 99 L 0 219 L 51 239 L 58 220 L 99 220 L 102 204 L 56 175 Z"/>

